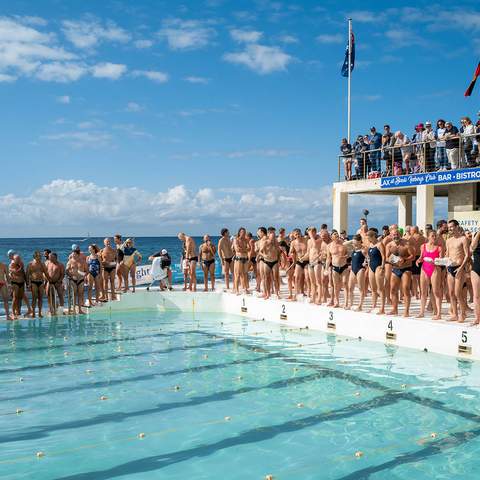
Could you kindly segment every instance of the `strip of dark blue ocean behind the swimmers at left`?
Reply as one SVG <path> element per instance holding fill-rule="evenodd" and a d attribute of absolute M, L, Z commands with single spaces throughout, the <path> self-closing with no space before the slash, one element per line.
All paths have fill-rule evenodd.
<path fill-rule="evenodd" d="M 124 237 L 127 238 L 127 237 Z M 134 238 L 134 237 L 130 237 Z M 193 237 L 198 245 L 202 243 L 202 237 Z M 59 260 L 66 263 L 68 255 L 71 252 L 72 244 L 76 243 L 80 246 L 83 253 L 88 255 L 88 246 L 92 243 L 97 244 L 100 248 L 103 247 L 104 237 L 89 237 L 89 238 L 0 238 L 0 261 L 8 264 L 7 252 L 12 249 L 15 250 L 27 264 L 32 260 L 33 252 L 39 250 L 43 251 L 48 248 L 52 252 L 56 252 Z M 212 237 L 215 245 L 218 244 L 219 237 Z M 137 250 L 142 254 L 142 265 L 148 264 L 148 257 L 153 253 L 165 248 L 172 257 L 172 271 L 174 283 L 183 281 L 183 274 L 180 269 L 180 257 L 182 255 L 182 242 L 177 237 L 137 237 L 134 238 Z M 113 238 L 112 238 L 113 244 Z M 197 280 L 203 281 L 203 274 L 201 269 L 197 269 Z M 220 262 L 216 262 L 216 276 L 221 275 Z"/>

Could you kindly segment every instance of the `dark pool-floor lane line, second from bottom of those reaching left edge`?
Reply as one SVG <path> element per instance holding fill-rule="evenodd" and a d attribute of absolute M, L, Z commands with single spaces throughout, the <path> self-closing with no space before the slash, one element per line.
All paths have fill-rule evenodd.
<path fill-rule="evenodd" d="M 149 374 L 145 374 L 145 375 L 139 375 L 137 377 L 121 378 L 121 379 L 117 379 L 117 380 L 103 380 L 103 381 L 98 381 L 98 382 L 93 382 L 93 383 L 85 383 L 85 384 L 77 385 L 75 387 L 56 388 L 56 389 L 53 389 L 53 390 L 46 390 L 46 391 L 43 391 L 43 392 L 19 395 L 17 397 L 0 398 L 0 402 L 13 401 L 13 400 L 25 400 L 25 399 L 28 399 L 28 398 L 36 398 L 36 397 L 41 397 L 41 396 L 44 396 L 44 395 L 53 395 L 53 394 L 56 394 L 56 393 L 77 392 L 77 391 L 80 391 L 80 390 L 88 390 L 88 389 L 91 389 L 91 388 L 113 387 L 113 386 L 117 386 L 117 385 L 122 385 L 124 383 L 153 380 L 157 377 L 183 375 L 183 374 L 187 374 L 187 373 L 195 373 L 195 372 L 203 372 L 203 371 L 208 371 L 208 370 L 216 370 L 216 369 L 221 369 L 221 368 L 228 368 L 230 366 L 236 366 L 236 365 L 244 365 L 244 364 L 249 364 L 249 363 L 264 362 L 266 360 L 270 360 L 270 359 L 273 359 L 273 358 L 278 358 L 278 354 L 277 353 L 272 353 L 270 355 L 265 355 L 265 356 L 262 356 L 262 357 L 254 357 L 254 358 L 247 358 L 247 359 L 242 359 L 242 360 L 234 360 L 232 362 L 226 362 L 226 363 L 199 365 L 197 367 L 188 367 L 188 368 L 183 368 L 181 370 L 170 370 L 170 371 L 160 372 L 160 373 L 149 373 Z"/>

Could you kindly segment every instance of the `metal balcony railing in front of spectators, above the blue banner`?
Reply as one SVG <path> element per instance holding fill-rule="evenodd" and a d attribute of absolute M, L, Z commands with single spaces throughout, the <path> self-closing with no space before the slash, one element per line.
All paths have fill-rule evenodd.
<path fill-rule="evenodd" d="M 444 146 L 446 141 L 456 140 L 456 152 L 453 151 L 455 148 L 447 149 Z M 444 145 L 439 146 L 439 142 Z M 338 181 L 478 167 L 479 144 L 480 133 L 459 134 L 448 140 L 393 144 L 372 150 L 365 144 L 361 151 L 338 156 Z"/>

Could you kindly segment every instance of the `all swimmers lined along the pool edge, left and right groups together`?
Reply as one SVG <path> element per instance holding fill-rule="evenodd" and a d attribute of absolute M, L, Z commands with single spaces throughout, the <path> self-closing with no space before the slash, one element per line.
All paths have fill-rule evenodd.
<path fill-rule="evenodd" d="M 436 229 L 384 226 L 382 231 L 360 220 L 353 238 L 345 232 L 309 227 L 287 233 L 284 228 L 260 227 L 256 236 L 240 228 L 232 236 L 221 230 L 215 244 L 208 235 L 197 246 L 194 238 L 178 235 L 183 253 L 184 290 L 197 290 L 197 266 L 203 270 L 204 290 L 215 289 L 215 264 L 222 267 L 224 287 L 234 293 L 256 291 L 265 299 L 281 298 L 286 283 L 288 300 L 308 298 L 311 303 L 361 311 L 369 299 L 369 311 L 410 316 L 411 299 L 420 300 L 418 317 L 432 313 L 435 320 L 448 316 L 465 322 L 473 303 L 474 325 L 480 324 L 480 231 L 473 235 L 456 220 L 441 220 Z M 118 292 L 135 292 L 136 266 L 142 255 L 132 239 L 115 235 L 113 243 L 90 245 L 88 255 L 72 245 L 66 265 L 55 252 L 35 252 L 26 266 L 15 251 L 9 264 L 0 263 L 0 297 L 6 317 L 42 316 L 43 300 L 49 312 L 85 312 L 85 308 L 115 300 Z M 159 259 L 157 257 L 160 257 Z M 164 278 L 160 289 L 172 288 L 171 258 L 163 249 L 149 260 L 161 261 Z M 86 289 L 86 298 L 85 298 Z M 29 290 L 29 296 L 26 294 Z M 93 298 L 95 293 L 95 298 Z M 65 308 L 65 297 L 68 308 Z M 10 307 L 11 302 L 11 307 Z"/>

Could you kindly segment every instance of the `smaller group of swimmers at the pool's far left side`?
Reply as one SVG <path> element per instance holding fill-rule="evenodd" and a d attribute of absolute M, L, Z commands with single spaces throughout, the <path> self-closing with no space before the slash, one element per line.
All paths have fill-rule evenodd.
<path fill-rule="evenodd" d="M 162 262 L 170 265 L 166 250 L 149 258 L 155 257 L 162 257 Z M 115 235 L 113 243 L 110 238 L 104 239 L 103 248 L 89 245 L 88 254 L 80 246 L 72 245 L 65 265 L 49 249 L 34 252 L 27 265 L 14 250 L 8 251 L 8 259 L 8 265 L 0 262 L 0 299 L 6 318 L 15 320 L 21 316 L 22 304 L 27 307 L 28 317 L 42 317 L 44 297 L 51 315 L 58 308 L 65 314 L 83 314 L 85 308 L 116 300 L 118 292 L 130 290 L 130 284 L 135 292 L 136 265 L 141 263 L 142 255 L 132 239 L 123 241 L 120 235 Z M 171 281 L 171 272 L 168 277 Z"/>

